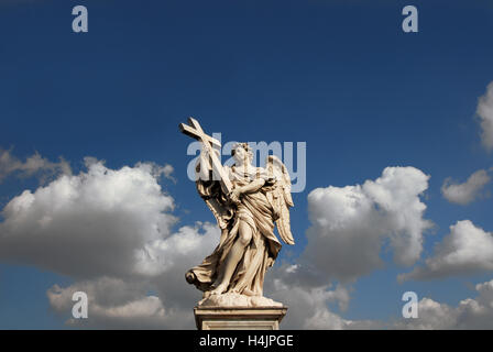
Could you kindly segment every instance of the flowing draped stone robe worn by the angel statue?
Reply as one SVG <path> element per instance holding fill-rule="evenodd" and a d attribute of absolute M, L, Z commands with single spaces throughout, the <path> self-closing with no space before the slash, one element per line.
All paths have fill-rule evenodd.
<path fill-rule="evenodd" d="M 272 184 L 261 167 L 254 168 L 253 174 L 243 174 L 234 166 L 224 168 L 234 187 L 245 186 L 260 177 L 267 182 L 259 190 L 240 196 L 240 204 L 232 209 L 233 216 L 226 219 L 219 245 L 201 264 L 190 270 L 196 277 L 194 284 L 202 292 L 215 288 L 213 284 L 223 271 L 222 265 L 238 240 L 240 221 L 243 221 L 252 229 L 252 239 L 244 248 L 226 293 L 262 296 L 265 272 L 269 264 L 272 265 L 277 257 L 282 246 L 274 234 L 274 221 L 277 216 L 269 194 Z M 205 199 L 220 196 L 218 182 L 198 180 L 197 189 Z M 269 258 L 272 258 L 271 263 Z"/>

